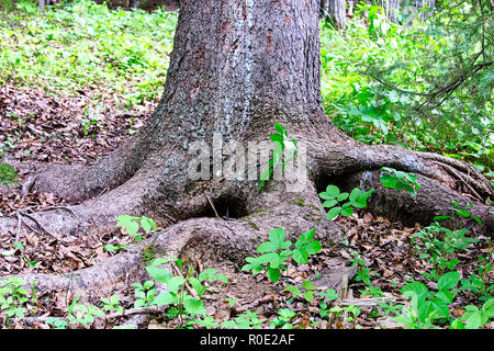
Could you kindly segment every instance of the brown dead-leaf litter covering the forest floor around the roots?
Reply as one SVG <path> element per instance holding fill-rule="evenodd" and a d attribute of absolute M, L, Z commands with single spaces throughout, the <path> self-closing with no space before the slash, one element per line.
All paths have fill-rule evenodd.
<path fill-rule="evenodd" d="M 90 101 L 90 94 L 78 98 L 50 97 L 41 89 L 8 84 L 0 87 L 0 115 L 7 116 L 0 120 L 0 143 L 10 147 L 9 154 L 19 160 L 90 165 L 135 133 L 154 109 L 154 103 L 148 103 L 139 110 L 123 113 L 109 99 L 103 103 L 106 110 L 88 113 Z M 7 136 L 14 136 L 14 139 Z M 25 174 L 19 176 L 22 183 Z M 18 208 L 40 211 L 63 204 L 60 199 L 49 193 L 33 193 L 22 199 L 21 185 L 10 185 L 8 189 L 0 186 L 0 216 L 15 215 Z M 336 222 L 347 234 L 346 240 L 333 246 L 323 242 L 323 250 L 311 256 L 307 264 L 289 264 L 288 271 L 277 284 L 269 282 L 262 274 L 244 273 L 231 263 L 217 265 L 198 258 L 194 262 L 198 270 L 215 264 L 216 271 L 224 273 L 229 280 L 227 284 L 214 283 L 209 286 L 203 296 L 207 316 L 222 322 L 248 310 L 254 313 L 250 315 L 252 326 L 269 328 L 280 322 L 280 309 L 289 308 L 295 313 L 290 318 L 294 328 L 400 328 L 400 325 L 385 316 L 386 312 L 377 304 L 379 299 L 373 299 L 375 295 L 371 296 L 372 292 L 369 290 L 363 292 L 368 286 L 362 281 L 352 280 L 348 284 L 347 301 L 359 309 L 356 318 L 350 318 L 348 310 L 343 312 L 343 316 L 333 314 L 327 318 L 327 312 L 321 305 L 321 296 L 308 303 L 302 296 L 291 297 L 283 288 L 287 285 L 300 285 L 310 279 L 317 290 L 325 291 L 332 286 L 325 283 L 324 272 L 341 264 L 351 265 L 351 262 L 356 262 L 356 254 L 360 256 L 370 270 L 368 276 L 371 278 L 372 286 L 381 291 L 381 296 L 384 296 L 381 298 L 388 303 L 404 303 L 400 288 L 409 281 L 422 281 L 429 288 L 437 287 L 423 275 L 430 269 L 430 264 L 418 259 L 413 250 L 411 238 L 422 229 L 418 224 L 415 227 L 404 227 L 392 218 L 373 216 L 366 211 L 339 217 Z M 125 229 L 116 227 L 113 233 L 104 236 L 52 237 L 32 231 L 29 235 L 22 233 L 15 238 L 14 234 L 1 234 L 0 275 L 69 273 L 115 254 L 114 251 L 106 250 L 105 246 L 130 244 L 132 239 Z M 457 265 L 457 270 L 463 278 L 470 276 L 478 270 L 478 257 L 489 257 L 492 250 L 485 240 L 471 244 L 469 250 L 459 253 L 461 263 Z M 347 261 L 343 262 L 341 258 Z M 355 265 L 355 270 L 363 269 L 363 263 Z M 492 281 L 494 271 L 489 274 Z M 128 287 L 128 291 L 119 294 L 122 306 L 132 308 L 133 288 Z M 37 302 L 31 306 L 30 313 L 36 317 L 64 316 L 71 302 L 66 292 L 38 293 Z M 479 301 L 473 294 L 460 291 L 452 305 L 452 314 L 461 316 L 464 313 L 462 306 L 468 304 L 479 305 Z M 92 327 L 110 328 L 121 325 L 126 318 L 128 317 L 117 316 L 111 320 L 97 319 Z M 177 328 L 179 325 L 179 319 L 168 320 L 160 314 L 139 328 Z M 281 325 L 282 322 L 278 324 Z M 3 327 L 48 328 L 43 318 L 35 319 L 30 325 L 16 320 L 13 325 Z M 200 328 L 198 325 L 194 327 Z M 493 329 L 494 322 L 484 327 Z"/>

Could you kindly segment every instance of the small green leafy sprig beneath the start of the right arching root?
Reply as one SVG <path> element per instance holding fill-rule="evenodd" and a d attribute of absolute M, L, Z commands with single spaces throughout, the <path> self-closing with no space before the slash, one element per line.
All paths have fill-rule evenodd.
<path fill-rule="evenodd" d="M 319 197 L 325 200 L 323 207 L 330 208 L 327 213 L 327 219 L 336 218 L 339 214 L 350 216 L 355 208 L 366 208 L 367 200 L 373 190 L 367 192 L 355 188 L 350 193 L 340 193 L 336 185 L 327 185 L 326 191 L 319 193 Z M 344 203 L 348 199 L 348 202 Z"/>

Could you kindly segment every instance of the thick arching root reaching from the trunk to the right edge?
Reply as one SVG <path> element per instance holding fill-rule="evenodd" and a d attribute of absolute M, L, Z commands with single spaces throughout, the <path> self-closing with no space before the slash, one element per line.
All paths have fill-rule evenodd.
<path fill-rule="evenodd" d="M 333 182 L 347 189 L 373 189 L 375 193 L 371 197 L 370 208 L 392 219 L 402 219 L 408 225 L 428 225 L 438 215 L 459 217 L 452 213 L 452 201 L 456 201 L 459 208 L 469 210 L 482 222 L 479 226 L 472 216 L 460 218 L 469 228 L 475 227 L 478 234 L 494 233 L 493 207 L 485 205 L 494 191 L 489 180 L 471 165 L 436 154 L 385 145 L 358 148 L 335 146 L 313 155 L 315 167 L 319 167 L 319 183 Z M 379 181 L 382 167 L 417 174 L 420 185 L 417 195 L 384 189 Z"/>

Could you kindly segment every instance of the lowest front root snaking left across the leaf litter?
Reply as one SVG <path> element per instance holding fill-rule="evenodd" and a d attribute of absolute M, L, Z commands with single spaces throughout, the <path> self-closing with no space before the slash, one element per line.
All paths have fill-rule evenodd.
<path fill-rule="evenodd" d="M 213 256 L 215 260 L 227 259 L 240 268 L 245 257 L 254 254 L 255 248 L 266 240 L 273 227 L 283 227 L 293 238 L 315 228 L 316 236 L 324 240 L 337 240 L 339 229 L 321 219 L 324 213 L 312 207 L 282 203 L 272 207 L 272 213 L 259 212 L 255 216 L 238 219 L 193 218 L 171 225 L 147 241 L 132 247 L 96 265 L 70 274 L 21 274 L 29 284 L 35 283 L 40 292 L 70 291 L 86 297 L 108 296 L 123 290 L 146 274 L 142 259 L 143 250 L 157 257 L 180 258 L 193 250 L 195 254 Z M 10 276 L 2 276 L 0 281 Z"/>

